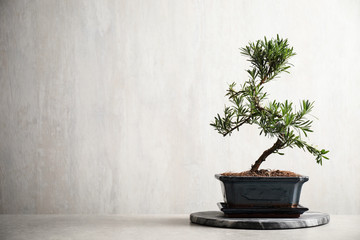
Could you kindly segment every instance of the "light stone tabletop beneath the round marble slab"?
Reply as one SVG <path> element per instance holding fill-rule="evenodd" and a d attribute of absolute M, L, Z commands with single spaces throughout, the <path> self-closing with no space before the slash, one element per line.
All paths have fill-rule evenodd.
<path fill-rule="evenodd" d="M 190 223 L 181 215 L 0 215 L 1 240 L 76 239 L 360 239 L 360 215 L 331 215 L 329 224 L 292 230 L 244 230 Z"/>

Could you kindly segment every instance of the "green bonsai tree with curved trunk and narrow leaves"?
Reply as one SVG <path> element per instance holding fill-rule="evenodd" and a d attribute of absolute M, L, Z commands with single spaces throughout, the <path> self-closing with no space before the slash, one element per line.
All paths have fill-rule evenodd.
<path fill-rule="evenodd" d="M 289 47 L 288 40 L 279 35 L 271 40 L 265 37 L 264 40 L 250 42 L 240 50 L 251 63 L 250 69 L 246 70 L 249 79 L 238 88 L 235 82 L 229 85 L 226 96 L 231 105 L 225 106 L 223 116 L 217 114 L 210 125 L 225 137 L 239 130 L 243 124 L 255 124 L 260 129 L 260 135 L 276 138 L 274 145 L 265 150 L 251 166 L 250 172 L 258 172 L 261 163 L 270 154 L 283 155 L 281 150 L 287 147 L 307 150 L 315 156 L 317 163 L 322 164 L 323 159 L 328 159 L 325 155 L 329 151 L 318 150 L 304 140 L 312 132 L 312 121 L 306 117 L 313 109 L 314 102 L 303 100 L 298 110 L 287 100 L 264 103 L 268 96 L 264 92 L 264 85 L 282 72 L 289 73 L 292 66 L 288 60 L 295 52 L 293 47 Z"/>

